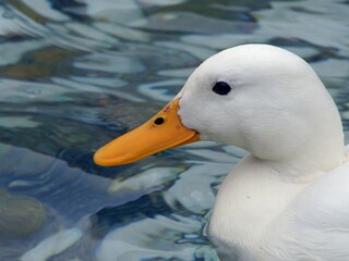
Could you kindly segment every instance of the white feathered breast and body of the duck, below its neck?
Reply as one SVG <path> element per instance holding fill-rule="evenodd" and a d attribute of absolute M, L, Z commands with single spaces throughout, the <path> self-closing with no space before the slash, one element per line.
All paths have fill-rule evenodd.
<path fill-rule="evenodd" d="M 348 260 L 349 163 L 317 174 L 292 183 L 253 156 L 241 160 L 220 186 L 210 219 L 220 260 Z"/>

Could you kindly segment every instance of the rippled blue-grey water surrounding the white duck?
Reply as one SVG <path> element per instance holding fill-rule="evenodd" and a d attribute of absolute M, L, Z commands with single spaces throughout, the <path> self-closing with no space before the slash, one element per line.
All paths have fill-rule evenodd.
<path fill-rule="evenodd" d="M 0 260 L 218 260 L 214 142 L 98 167 L 93 151 L 170 100 L 204 59 L 268 42 L 311 62 L 349 127 L 348 1 L 0 1 Z"/>

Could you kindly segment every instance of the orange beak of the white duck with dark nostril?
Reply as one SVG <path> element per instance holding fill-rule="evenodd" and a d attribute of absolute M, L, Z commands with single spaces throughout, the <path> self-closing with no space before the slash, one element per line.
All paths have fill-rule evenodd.
<path fill-rule="evenodd" d="M 103 166 L 128 164 L 161 150 L 197 141 L 198 133 L 181 123 L 178 108 L 179 99 L 176 99 L 140 127 L 111 140 L 97 150 L 95 163 Z"/>

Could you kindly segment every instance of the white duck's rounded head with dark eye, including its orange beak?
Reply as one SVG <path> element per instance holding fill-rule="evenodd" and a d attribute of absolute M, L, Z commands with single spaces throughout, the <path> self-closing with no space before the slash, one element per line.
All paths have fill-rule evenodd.
<path fill-rule="evenodd" d="M 244 45 L 203 62 L 165 109 L 94 160 L 125 164 L 200 139 L 278 162 L 318 158 L 324 149 L 338 158 L 344 146 L 338 111 L 311 66 L 277 47 Z"/>

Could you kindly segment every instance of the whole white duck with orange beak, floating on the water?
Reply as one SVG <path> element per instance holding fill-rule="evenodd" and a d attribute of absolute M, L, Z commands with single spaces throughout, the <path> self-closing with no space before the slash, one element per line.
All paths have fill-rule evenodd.
<path fill-rule="evenodd" d="M 99 149 L 124 164 L 195 140 L 250 152 L 224 181 L 209 238 L 221 260 L 349 260 L 349 163 L 338 110 L 301 58 L 267 45 L 224 50 L 141 127 Z"/>

